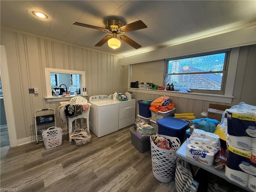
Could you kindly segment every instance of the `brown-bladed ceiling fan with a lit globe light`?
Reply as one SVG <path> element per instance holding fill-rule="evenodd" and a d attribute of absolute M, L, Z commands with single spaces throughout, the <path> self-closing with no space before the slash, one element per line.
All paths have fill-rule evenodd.
<path fill-rule="evenodd" d="M 120 36 L 121 40 L 123 40 L 133 48 L 135 49 L 141 48 L 142 46 L 140 44 L 136 43 L 134 40 L 130 39 L 129 37 L 123 34 L 125 32 L 147 28 L 147 26 L 141 20 L 124 25 L 121 21 L 112 19 L 106 22 L 106 28 L 88 25 L 88 24 L 79 23 L 79 22 L 74 22 L 72 24 L 82 26 L 82 27 L 102 30 L 104 32 L 110 33 L 111 35 L 107 35 L 104 38 L 102 38 L 95 46 L 100 47 L 104 43 L 108 42 L 108 46 L 110 46 L 113 49 L 119 48 L 121 44 L 121 42 L 117 39 L 117 36 Z"/>

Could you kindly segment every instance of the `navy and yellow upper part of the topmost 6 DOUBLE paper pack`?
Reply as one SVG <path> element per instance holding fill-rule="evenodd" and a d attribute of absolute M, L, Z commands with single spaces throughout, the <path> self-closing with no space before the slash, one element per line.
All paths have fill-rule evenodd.
<path fill-rule="evenodd" d="M 256 138 L 256 106 L 240 102 L 227 109 L 228 134 Z"/>

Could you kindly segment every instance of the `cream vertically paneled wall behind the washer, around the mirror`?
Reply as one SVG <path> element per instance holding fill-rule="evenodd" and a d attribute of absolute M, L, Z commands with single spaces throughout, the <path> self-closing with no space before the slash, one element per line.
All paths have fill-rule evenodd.
<path fill-rule="evenodd" d="M 18 140 L 29 138 L 38 109 L 54 108 L 57 126 L 64 128 L 57 113 L 60 102 L 47 102 L 44 98 L 44 68 L 85 71 L 89 96 L 120 91 L 119 56 L 4 27 L 1 45 L 6 49 Z M 38 88 L 39 94 L 29 94 L 28 88 Z"/>

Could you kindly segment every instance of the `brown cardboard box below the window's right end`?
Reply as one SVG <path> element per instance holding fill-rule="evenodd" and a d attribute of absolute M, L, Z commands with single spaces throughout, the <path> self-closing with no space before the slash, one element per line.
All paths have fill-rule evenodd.
<path fill-rule="evenodd" d="M 216 119 L 219 122 L 221 121 L 222 114 L 226 109 L 229 109 L 231 106 L 228 105 L 218 105 L 218 104 L 209 104 L 208 115 L 209 119 Z"/>

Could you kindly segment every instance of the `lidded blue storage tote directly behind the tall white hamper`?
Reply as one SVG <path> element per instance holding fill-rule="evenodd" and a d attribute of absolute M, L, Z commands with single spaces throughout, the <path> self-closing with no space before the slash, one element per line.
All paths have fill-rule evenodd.
<path fill-rule="evenodd" d="M 158 134 L 178 137 L 182 143 L 184 140 L 186 127 L 189 122 L 174 117 L 165 117 L 156 121 L 158 124 Z"/>

